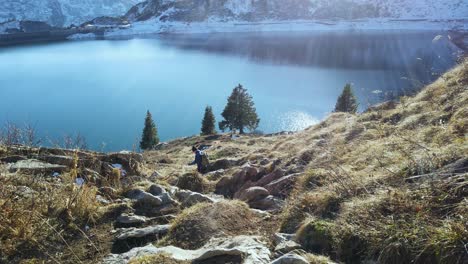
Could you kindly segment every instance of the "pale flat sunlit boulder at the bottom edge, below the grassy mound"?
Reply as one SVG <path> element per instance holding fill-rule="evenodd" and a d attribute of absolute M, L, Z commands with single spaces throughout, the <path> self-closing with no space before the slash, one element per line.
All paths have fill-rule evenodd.
<path fill-rule="evenodd" d="M 124 254 L 112 254 L 103 264 L 126 264 L 138 257 L 166 254 L 174 260 L 192 263 L 243 263 L 262 264 L 270 262 L 270 251 L 260 237 L 236 236 L 212 238 L 196 250 L 185 250 L 174 246 L 157 248 L 148 245 L 134 248 Z"/>

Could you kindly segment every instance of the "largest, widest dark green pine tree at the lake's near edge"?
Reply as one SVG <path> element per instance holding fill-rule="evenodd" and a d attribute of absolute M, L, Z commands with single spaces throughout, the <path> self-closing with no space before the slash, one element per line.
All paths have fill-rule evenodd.
<path fill-rule="evenodd" d="M 219 123 L 222 131 L 239 129 L 239 133 L 243 134 L 245 128 L 255 130 L 260 123 L 252 96 L 240 84 L 229 96 L 222 116 L 224 120 Z"/>

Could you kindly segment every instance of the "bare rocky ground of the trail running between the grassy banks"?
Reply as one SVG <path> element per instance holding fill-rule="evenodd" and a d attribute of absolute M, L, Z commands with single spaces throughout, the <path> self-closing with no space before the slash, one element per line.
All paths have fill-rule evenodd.
<path fill-rule="evenodd" d="M 210 151 L 209 147 L 206 148 L 206 151 Z M 114 212 L 108 220 L 113 226 L 110 230 L 111 254 L 102 263 L 129 263 L 155 254 L 168 255 L 175 261 L 185 261 L 183 263 L 309 263 L 301 256 L 305 252 L 293 241 L 293 234 L 276 233 L 270 238 L 255 230 L 260 227 L 253 228 L 251 235 L 242 234 L 242 230 L 223 235 L 224 232 L 218 232 L 223 228 L 215 227 L 214 233 L 208 234 L 209 240 L 197 249 L 184 249 L 169 243 L 156 246 L 164 241 L 168 233 L 177 232 L 173 230 L 172 223 L 184 209 L 199 204 L 210 204 L 215 206 L 215 210 L 222 210 L 222 206 L 218 208 L 217 204 L 240 200 L 250 207 L 249 214 L 257 224 L 271 223 L 284 205 L 283 199 L 291 190 L 298 173 L 272 169 L 273 163 L 270 164 L 268 159 L 261 160 L 257 165 L 245 160 L 218 159 L 211 163 L 210 172 L 206 175 L 198 175 L 186 168 L 189 172 L 174 182 L 157 171 L 151 173 L 148 169 L 148 164 L 154 160 L 151 155 L 159 153 L 155 151 L 145 156 L 131 152 L 102 154 L 17 146 L 8 147 L 1 155 L 1 161 L 7 164 L 9 173 L 42 175 L 46 180 L 57 183 L 61 181 L 62 174 L 78 167 L 80 173 L 75 180 L 76 186 L 100 186 L 96 200 L 101 206 L 117 208 L 117 213 Z M 163 163 L 167 167 L 171 162 L 166 160 Z M 179 164 L 173 165 L 174 168 L 179 167 Z M 269 165 L 268 168 L 266 165 Z M 236 170 L 236 173 L 226 176 L 232 170 Z M 120 190 L 110 187 L 115 185 L 116 175 L 120 177 Z M 215 184 L 207 179 L 219 181 Z M 206 184 L 209 186 L 205 188 Z M 205 220 L 213 221 L 215 225 L 221 223 L 209 216 Z"/>

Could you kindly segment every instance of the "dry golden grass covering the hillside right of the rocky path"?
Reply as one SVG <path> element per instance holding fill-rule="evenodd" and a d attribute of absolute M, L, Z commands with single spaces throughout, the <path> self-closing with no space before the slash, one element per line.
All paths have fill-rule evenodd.
<path fill-rule="evenodd" d="M 329 244 L 320 253 L 346 263 L 468 261 L 468 178 L 435 173 L 468 156 L 467 76 L 465 61 L 395 109 L 333 114 L 297 135 L 288 146 L 315 154 L 281 229 L 298 230 L 307 246 L 320 236 L 301 222 L 328 223 Z M 416 182 L 405 180 L 412 176 Z"/>

